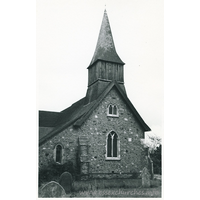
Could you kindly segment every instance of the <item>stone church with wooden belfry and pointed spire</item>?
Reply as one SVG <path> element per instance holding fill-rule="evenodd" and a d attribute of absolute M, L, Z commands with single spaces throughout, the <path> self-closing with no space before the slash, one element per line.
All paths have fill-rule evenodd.
<path fill-rule="evenodd" d="M 81 176 L 129 177 L 148 166 L 150 131 L 127 96 L 106 10 L 87 67 L 86 95 L 61 112 L 39 111 L 39 168 L 71 161 Z"/>

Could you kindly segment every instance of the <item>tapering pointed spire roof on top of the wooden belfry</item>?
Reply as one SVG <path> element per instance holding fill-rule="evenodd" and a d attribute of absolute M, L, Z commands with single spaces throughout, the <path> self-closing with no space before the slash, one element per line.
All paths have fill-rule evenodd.
<path fill-rule="evenodd" d="M 104 11 L 96 49 L 89 67 L 97 60 L 124 64 L 124 62 L 120 59 L 115 50 L 113 36 L 106 10 Z"/>

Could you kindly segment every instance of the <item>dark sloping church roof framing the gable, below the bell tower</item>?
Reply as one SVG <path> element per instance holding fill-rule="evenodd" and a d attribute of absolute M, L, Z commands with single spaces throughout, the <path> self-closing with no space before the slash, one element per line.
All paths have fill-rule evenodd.
<path fill-rule="evenodd" d="M 57 133 L 61 132 L 62 130 L 66 129 L 70 125 L 73 124 L 75 127 L 80 127 L 92 114 L 93 110 L 100 104 L 100 102 L 106 97 L 106 95 L 110 92 L 110 90 L 115 87 L 119 94 L 121 95 L 122 99 L 125 101 L 127 106 L 131 109 L 131 112 L 138 120 L 138 123 L 141 125 L 144 131 L 150 131 L 151 129 L 148 127 L 148 125 L 144 122 L 144 120 L 141 118 L 135 107 L 132 105 L 131 101 L 128 99 L 124 91 L 120 88 L 117 82 L 112 81 L 107 88 L 104 90 L 104 92 L 99 95 L 99 97 L 94 100 L 93 102 L 84 105 L 85 98 L 82 98 L 81 100 L 74 103 L 69 108 L 63 110 L 59 114 L 59 119 L 57 119 L 56 125 L 54 129 L 44 135 L 40 141 L 39 145 L 43 144 L 45 141 L 56 135 Z"/>

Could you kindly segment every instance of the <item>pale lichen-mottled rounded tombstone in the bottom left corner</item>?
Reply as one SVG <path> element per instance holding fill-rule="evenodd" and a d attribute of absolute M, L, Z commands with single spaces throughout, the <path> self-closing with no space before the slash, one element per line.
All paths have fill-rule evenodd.
<path fill-rule="evenodd" d="M 50 198 L 50 197 L 67 197 L 63 187 L 55 181 L 51 181 L 44 185 L 40 190 L 40 197 Z"/>

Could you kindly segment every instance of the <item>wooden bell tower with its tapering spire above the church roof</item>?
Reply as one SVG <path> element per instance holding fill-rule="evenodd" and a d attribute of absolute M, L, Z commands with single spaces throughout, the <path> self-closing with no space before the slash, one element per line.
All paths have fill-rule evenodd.
<path fill-rule="evenodd" d="M 124 64 L 116 52 L 108 15 L 105 10 L 96 49 L 87 68 L 88 89 L 85 104 L 97 99 L 112 81 L 116 81 L 126 93 Z"/>

